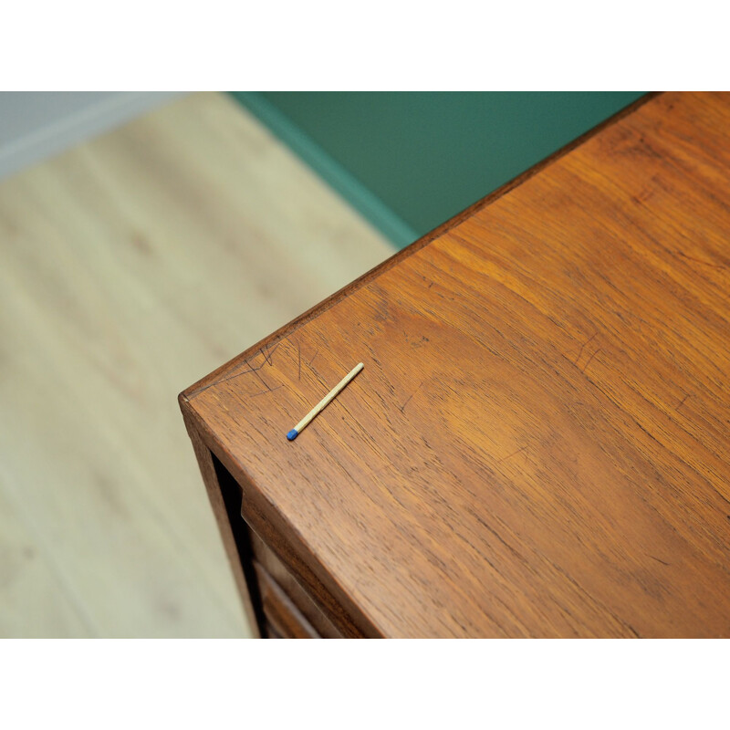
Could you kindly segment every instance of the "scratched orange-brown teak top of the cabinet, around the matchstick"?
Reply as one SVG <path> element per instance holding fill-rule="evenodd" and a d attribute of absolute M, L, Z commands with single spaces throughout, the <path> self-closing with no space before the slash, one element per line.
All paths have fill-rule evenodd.
<path fill-rule="evenodd" d="M 728 636 L 729 233 L 730 97 L 663 94 L 183 408 L 384 635 Z"/>

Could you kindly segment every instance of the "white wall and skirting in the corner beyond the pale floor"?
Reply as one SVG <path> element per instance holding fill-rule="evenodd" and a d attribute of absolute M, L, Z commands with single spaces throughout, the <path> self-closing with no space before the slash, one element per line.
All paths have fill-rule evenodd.
<path fill-rule="evenodd" d="M 0 92 L 0 178 L 169 101 L 149 91 Z"/>

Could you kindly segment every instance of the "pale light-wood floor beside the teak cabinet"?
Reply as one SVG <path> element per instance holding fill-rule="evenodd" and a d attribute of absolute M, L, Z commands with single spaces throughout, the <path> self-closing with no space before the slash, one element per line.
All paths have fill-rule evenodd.
<path fill-rule="evenodd" d="M 0 635 L 247 635 L 177 393 L 391 253 L 221 95 L 0 183 Z"/>

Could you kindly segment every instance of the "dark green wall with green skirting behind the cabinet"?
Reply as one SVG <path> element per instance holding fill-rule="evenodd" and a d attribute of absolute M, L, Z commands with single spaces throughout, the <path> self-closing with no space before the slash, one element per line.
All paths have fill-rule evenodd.
<path fill-rule="evenodd" d="M 397 246 L 639 92 L 234 92 Z"/>

